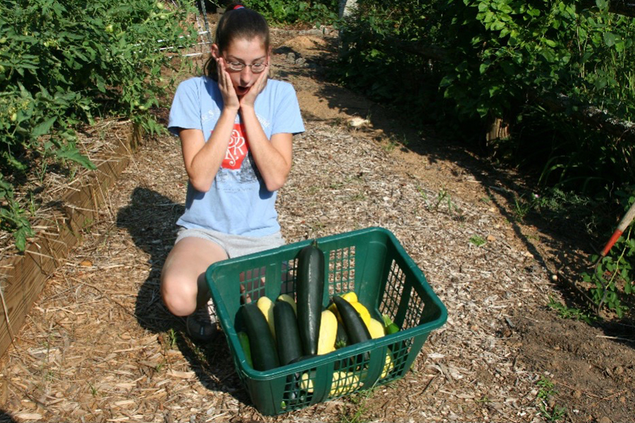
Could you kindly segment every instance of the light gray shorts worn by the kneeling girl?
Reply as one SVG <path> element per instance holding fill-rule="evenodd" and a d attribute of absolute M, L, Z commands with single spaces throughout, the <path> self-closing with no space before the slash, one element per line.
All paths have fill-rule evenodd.
<path fill-rule="evenodd" d="M 253 252 L 269 250 L 270 248 L 284 245 L 284 238 L 282 238 L 280 231 L 265 236 L 242 236 L 199 228 L 180 228 L 174 243 L 176 244 L 188 236 L 194 236 L 196 238 L 210 240 L 212 243 L 217 243 L 225 250 L 227 257 L 230 259 L 232 257 L 248 255 Z"/>

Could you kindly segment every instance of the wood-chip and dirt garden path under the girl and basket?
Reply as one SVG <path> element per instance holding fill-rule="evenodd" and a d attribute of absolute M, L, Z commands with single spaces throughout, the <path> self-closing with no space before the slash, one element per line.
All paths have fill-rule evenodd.
<path fill-rule="evenodd" d="M 333 40 L 274 31 L 276 78 L 294 83 L 307 129 L 294 141 L 280 221 L 288 242 L 368 226 L 397 235 L 449 313 L 412 371 L 370 393 L 262 417 L 224 339 L 193 345 L 159 300 L 187 180 L 178 141 L 164 136 L 135 154 L 101 223 L 8 350 L 0 421 L 632 420 L 634 343 L 546 307 L 562 296 L 551 276 L 575 258 L 570 240 L 514 219 L 513 175 L 320 82 Z M 351 128 L 353 117 L 371 123 Z"/>

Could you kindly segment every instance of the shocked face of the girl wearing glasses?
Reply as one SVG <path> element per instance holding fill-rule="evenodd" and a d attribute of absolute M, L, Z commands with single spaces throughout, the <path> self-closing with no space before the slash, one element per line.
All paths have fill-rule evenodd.
<path fill-rule="evenodd" d="M 262 68 L 262 71 L 258 73 L 253 72 L 251 65 L 257 65 L 258 63 L 269 64 L 269 51 L 265 49 L 265 44 L 259 37 L 252 39 L 234 39 L 229 43 L 229 47 L 222 54 L 219 52 L 216 44 L 212 45 L 212 55 L 218 59 L 222 56 L 225 64 L 225 71 L 229 73 L 229 78 L 234 85 L 236 95 L 238 98 L 247 94 L 250 87 L 253 86 L 255 81 L 260 76 L 262 71 L 266 68 Z M 240 63 L 240 64 L 238 64 Z M 243 68 L 242 71 L 236 71 L 234 68 Z M 258 66 L 255 66 L 256 70 Z"/>

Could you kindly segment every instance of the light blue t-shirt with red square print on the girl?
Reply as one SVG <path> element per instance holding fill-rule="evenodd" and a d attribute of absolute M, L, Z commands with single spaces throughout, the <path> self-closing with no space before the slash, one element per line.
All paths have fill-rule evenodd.
<path fill-rule="evenodd" d="M 179 84 L 170 109 L 168 129 L 200 129 L 205 140 L 220 117 L 223 97 L 216 81 L 200 76 Z M 268 80 L 256 97 L 255 113 L 267 138 L 304 131 L 296 91 L 289 82 Z M 236 116 L 229 147 L 212 188 L 195 190 L 188 183 L 186 211 L 176 221 L 186 228 L 204 228 L 232 235 L 264 236 L 280 230 L 275 209 L 277 192 L 267 190 L 251 156 L 249 140 Z"/>

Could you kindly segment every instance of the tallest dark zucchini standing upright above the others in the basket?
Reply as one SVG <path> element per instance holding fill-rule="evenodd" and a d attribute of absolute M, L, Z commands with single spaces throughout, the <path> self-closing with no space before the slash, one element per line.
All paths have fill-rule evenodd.
<path fill-rule="evenodd" d="M 296 281 L 296 306 L 298 329 L 303 352 L 317 354 L 322 319 L 322 298 L 325 279 L 324 252 L 317 242 L 307 245 L 298 254 L 298 276 Z"/>

